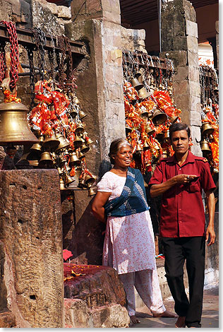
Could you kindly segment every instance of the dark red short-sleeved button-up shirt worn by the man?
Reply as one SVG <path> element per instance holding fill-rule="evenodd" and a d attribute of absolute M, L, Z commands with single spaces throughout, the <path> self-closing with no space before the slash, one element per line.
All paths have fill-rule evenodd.
<path fill-rule="evenodd" d="M 198 178 L 188 184 L 175 184 L 162 194 L 159 234 L 162 237 L 196 237 L 205 235 L 205 211 L 202 189 L 215 189 L 206 158 L 197 157 L 188 151 L 183 165 L 175 155 L 163 158 L 157 165 L 149 186 L 161 184 L 178 174 L 193 174 Z"/>

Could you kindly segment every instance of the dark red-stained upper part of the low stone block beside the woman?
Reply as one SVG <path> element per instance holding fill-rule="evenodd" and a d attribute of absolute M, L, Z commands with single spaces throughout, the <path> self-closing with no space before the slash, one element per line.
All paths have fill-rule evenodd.
<path fill-rule="evenodd" d="M 84 275 L 65 281 L 65 298 L 83 300 L 89 308 L 102 307 L 111 303 L 121 304 L 121 306 L 126 304 L 123 285 L 114 268 L 64 263 L 65 277 L 71 274 L 71 270 Z"/>

